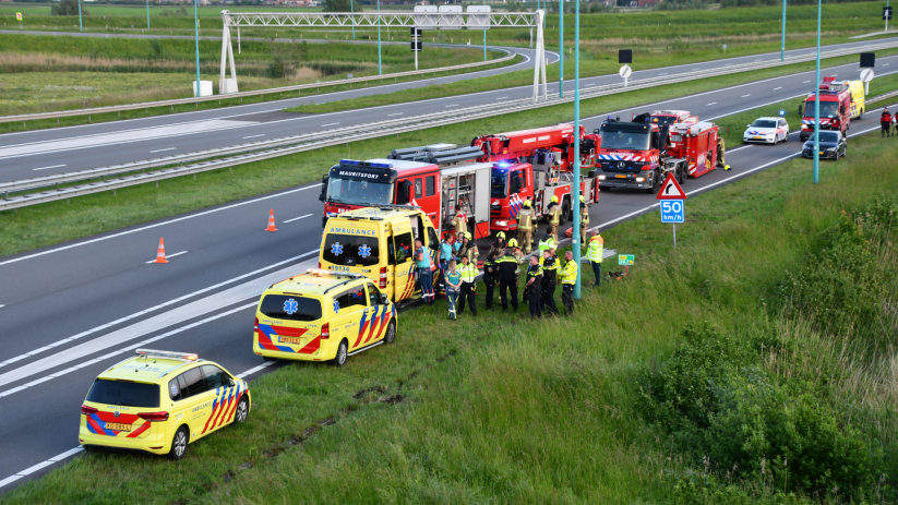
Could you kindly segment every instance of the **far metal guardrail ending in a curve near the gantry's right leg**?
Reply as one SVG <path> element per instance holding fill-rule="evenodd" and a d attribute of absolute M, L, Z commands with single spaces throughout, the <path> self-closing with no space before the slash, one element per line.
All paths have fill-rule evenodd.
<path fill-rule="evenodd" d="M 495 50 L 500 51 L 507 51 L 507 49 L 498 48 Z M 436 69 L 424 69 L 424 70 L 409 70 L 406 72 L 395 72 L 392 74 L 384 74 L 384 75 L 368 75 L 363 77 L 354 77 L 354 79 L 344 79 L 339 81 L 326 81 L 323 83 L 308 83 L 308 84 L 297 84 L 294 86 L 282 86 L 282 87 L 271 87 L 266 89 L 253 89 L 250 92 L 240 92 L 240 93 L 228 93 L 224 95 L 213 95 L 213 96 L 202 96 L 202 97 L 189 97 L 189 98 L 175 98 L 171 100 L 158 100 L 158 101 L 145 101 L 141 104 L 125 104 L 125 105 L 112 105 L 107 107 L 92 107 L 87 109 L 73 109 L 73 110 L 60 110 L 56 112 L 35 112 L 35 113 L 26 113 L 26 115 L 16 115 L 16 116 L 0 116 L 0 123 L 9 123 L 15 121 L 34 121 L 38 119 L 56 119 L 56 118 L 69 118 L 74 116 L 93 116 L 98 113 L 108 113 L 108 112 L 122 112 L 125 110 L 139 110 L 139 109 L 152 109 L 157 107 L 173 107 L 176 105 L 185 105 L 185 104 L 201 104 L 204 101 L 215 101 L 215 100 L 229 100 L 234 98 L 243 98 L 249 96 L 261 96 L 261 95 L 273 95 L 277 93 L 286 93 L 286 92 L 298 92 L 302 89 L 311 89 L 318 87 L 330 87 L 330 86 L 340 86 L 347 84 L 357 84 L 357 83 L 366 83 L 372 81 L 381 81 L 381 80 L 388 80 L 388 79 L 398 79 L 398 77 L 407 77 L 410 75 L 424 75 L 429 73 L 443 73 L 443 72 L 452 72 L 455 70 L 465 70 L 465 69 L 476 69 L 478 67 L 487 67 L 491 64 L 499 64 L 504 63 L 514 59 L 515 53 L 508 51 L 507 55 L 503 56 L 502 58 L 496 58 L 493 60 L 487 61 L 477 61 L 475 63 L 463 63 L 456 64 L 452 67 L 440 67 Z"/>

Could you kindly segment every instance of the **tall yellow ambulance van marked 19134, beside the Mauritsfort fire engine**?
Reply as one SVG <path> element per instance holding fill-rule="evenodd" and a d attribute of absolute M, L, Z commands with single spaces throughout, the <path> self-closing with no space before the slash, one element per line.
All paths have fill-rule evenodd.
<path fill-rule="evenodd" d="M 440 238 L 418 207 L 366 207 L 330 217 L 324 225 L 319 266 L 361 274 L 394 302 L 412 298 L 415 241 L 436 261 Z"/>

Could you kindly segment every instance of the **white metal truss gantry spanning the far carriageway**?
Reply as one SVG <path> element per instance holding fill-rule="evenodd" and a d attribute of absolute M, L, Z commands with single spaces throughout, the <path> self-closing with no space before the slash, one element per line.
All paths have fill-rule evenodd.
<path fill-rule="evenodd" d="M 536 28 L 536 47 L 534 49 L 534 101 L 548 98 L 549 88 L 546 80 L 546 44 L 542 34 L 542 20 L 546 11 L 532 12 L 492 12 L 480 7 L 468 11 L 439 12 L 229 12 L 221 11 L 221 65 L 218 76 L 218 89 L 234 93 L 237 89 L 237 69 L 234 65 L 234 45 L 230 28 L 237 28 L 238 51 L 240 46 L 240 27 L 418 27 L 435 29 L 468 28 L 483 31 L 488 28 Z M 229 87 L 225 80 L 230 67 Z M 541 77 L 541 79 L 540 79 Z M 539 84 L 542 84 L 540 86 Z M 229 91 L 234 89 L 234 92 Z"/>

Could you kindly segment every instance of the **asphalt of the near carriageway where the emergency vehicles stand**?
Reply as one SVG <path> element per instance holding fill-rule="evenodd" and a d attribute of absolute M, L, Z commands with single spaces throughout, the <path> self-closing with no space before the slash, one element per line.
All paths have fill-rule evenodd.
<path fill-rule="evenodd" d="M 881 67 L 891 61 L 883 58 Z M 833 72 L 853 77 L 857 67 L 825 74 Z M 811 79 L 813 73 L 777 77 L 609 113 L 628 118 L 677 108 L 714 120 L 802 95 Z M 852 122 L 851 132 L 877 129 L 876 116 Z M 584 123 L 596 128 L 603 117 Z M 731 147 L 732 171 L 690 180 L 685 190 L 694 196 L 789 159 L 800 149 L 797 136 L 778 146 Z M 79 406 L 91 382 L 136 347 L 195 351 L 238 374 L 262 370 L 266 363 L 251 351 L 254 304 L 272 281 L 316 264 L 319 191 L 308 184 L 0 258 L 0 492 L 77 454 Z M 591 223 L 608 228 L 656 206 L 644 193 L 607 191 L 592 206 Z M 270 209 L 277 232 L 263 231 Z M 166 265 L 149 263 L 160 237 Z"/>

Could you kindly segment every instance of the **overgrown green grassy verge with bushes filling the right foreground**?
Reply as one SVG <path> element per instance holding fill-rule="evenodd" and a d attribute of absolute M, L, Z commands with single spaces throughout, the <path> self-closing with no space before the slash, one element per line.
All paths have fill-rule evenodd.
<path fill-rule="evenodd" d="M 86 455 L 4 500 L 891 502 L 896 161 L 866 135 L 819 184 L 797 159 L 695 195 L 675 250 L 651 213 L 607 230 L 636 266 L 571 317 L 419 308 L 345 369 L 254 381 L 250 423 L 177 471 Z"/>

